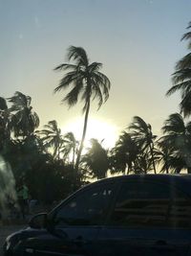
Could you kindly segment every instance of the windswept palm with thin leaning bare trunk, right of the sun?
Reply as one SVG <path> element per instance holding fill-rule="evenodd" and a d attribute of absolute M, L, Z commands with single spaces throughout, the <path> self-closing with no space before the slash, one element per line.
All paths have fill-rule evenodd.
<path fill-rule="evenodd" d="M 137 143 L 138 148 L 140 148 L 142 152 L 150 152 L 154 173 L 156 174 L 157 171 L 154 159 L 154 141 L 157 136 L 153 135 L 151 125 L 146 124 L 144 120 L 139 116 L 135 116 L 133 118 L 133 122 L 129 126 L 129 129 L 131 130 L 130 134 Z"/>

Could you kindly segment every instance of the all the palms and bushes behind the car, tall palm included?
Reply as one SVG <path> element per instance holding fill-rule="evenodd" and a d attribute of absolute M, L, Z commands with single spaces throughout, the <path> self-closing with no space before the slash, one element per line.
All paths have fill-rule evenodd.
<path fill-rule="evenodd" d="M 190 51 L 191 32 L 182 39 L 188 41 Z M 173 85 L 167 91 L 168 96 L 180 91 L 180 113 L 166 118 L 161 136 L 153 134 L 152 126 L 141 117 L 134 116 L 113 149 L 104 149 L 101 142 L 92 138 L 85 153 L 82 149 L 91 102 L 97 99 L 98 107 L 106 102 L 111 84 L 99 72 L 101 63 L 89 63 L 83 48 L 70 47 L 68 59 L 73 63 L 55 68 L 65 74 L 54 92 L 72 85 L 63 101 L 69 106 L 79 100 L 84 103 L 81 141 L 76 140 L 73 132 L 62 134 L 55 120 L 38 129 L 40 120 L 30 96 L 16 91 L 11 98 L 0 97 L 0 154 L 11 165 L 16 184 L 25 179 L 32 198 L 49 203 L 92 178 L 109 174 L 191 174 L 191 122 L 185 121 L 191 114 L 190 52 L 176 64 Z"/>

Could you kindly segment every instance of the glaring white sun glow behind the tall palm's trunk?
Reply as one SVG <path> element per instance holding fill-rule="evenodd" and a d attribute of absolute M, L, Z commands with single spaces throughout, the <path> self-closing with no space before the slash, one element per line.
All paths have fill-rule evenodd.
<path fill-rule="evenodd" d="M 81 139 L 83 128 L 83 119 L 74 119 L 71 123 L 64 126 L 63 133 L 72 131 L 77 140 Z M 90 139 L 95 138 L 98 142 L 102 142 L 105 149 L 111 149 L 117 141 L 117 127 L 112 123 L 106 123 L 102 120 L 90 118 L 86 132 L 84 147 L 90 146 Z"/>

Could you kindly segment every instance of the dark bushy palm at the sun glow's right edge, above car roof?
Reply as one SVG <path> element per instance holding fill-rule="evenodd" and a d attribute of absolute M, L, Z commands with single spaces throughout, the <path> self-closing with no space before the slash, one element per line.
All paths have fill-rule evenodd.
<path fill-rule="evenodd" d="M 129 174 L 137 157 L 137 144 L 129 133 L 122 131 L 115 148 L 111 151 L 110 161 L 112 173 L 122 172 L 124 175 Z"/>

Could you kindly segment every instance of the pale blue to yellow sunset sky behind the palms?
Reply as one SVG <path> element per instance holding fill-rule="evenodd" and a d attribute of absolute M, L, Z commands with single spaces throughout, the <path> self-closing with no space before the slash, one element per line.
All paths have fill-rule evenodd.
<path fill-rule="evenodd" d="M 41 128 L 56 120 L 63 132 L 81 133 L 82 105 L 69 109 L 64 91 L 53 94 L 64 76 L 53 68 L 69 46 L 81 46 L 112 83 L 107 103 L 91 106 L 90 136 L 114 142 L 134 116 L 159 135 L 179 111 L 180 94 L 165 93 L 187 53 L 180 38 L 190 11 L 191 0 L 0 0 L 0 96 L 29 95 Z"/>

